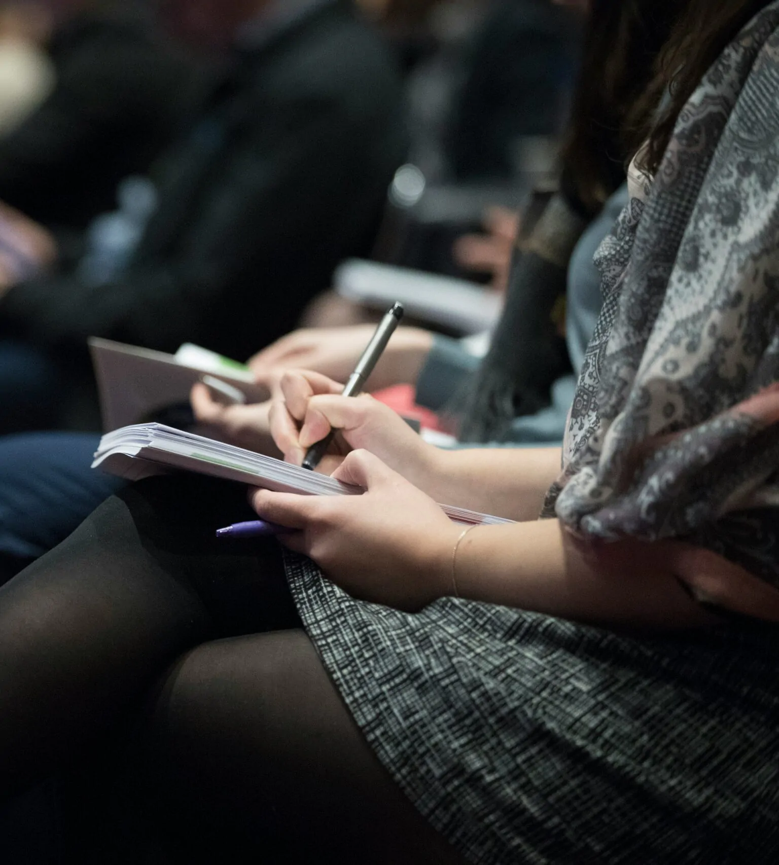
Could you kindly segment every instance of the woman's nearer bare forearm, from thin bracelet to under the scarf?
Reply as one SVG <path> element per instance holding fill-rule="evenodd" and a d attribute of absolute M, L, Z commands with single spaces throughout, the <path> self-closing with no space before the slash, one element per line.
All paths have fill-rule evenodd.
<path fill-rule="evenodd" d="M 615 628 L 684 628 L 716 619 L 667 565 L 663 543 L 586 547 L 557 520 L 483 526 L 454 561 L 463 598 Z M 454 586 L 453 586 L 454 590 Z"/>

